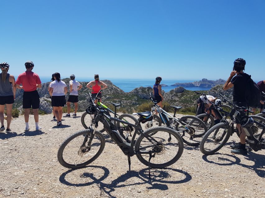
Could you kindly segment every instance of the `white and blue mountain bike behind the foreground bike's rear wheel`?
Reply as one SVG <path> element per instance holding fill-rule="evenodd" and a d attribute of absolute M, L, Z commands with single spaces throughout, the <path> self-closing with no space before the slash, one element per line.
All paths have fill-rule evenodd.
<path fill-rule="evenodd" d="M 153 99 L 151 93 L 150 100 L 153 102 L 153 107 L 151 108 L 153 119 L 147 122 L 145 128 L 152 127 L 154 123 L 163 123 L 166 127 L 176 130 L 186 144 L 199 146 L 201 138 L 207 131 L 207 127 L 202 120 L 193 115 L 176 118 L 176 111 L 181 109 L 181 106 L 170 106 L 174 109 L 174 115 L 172 116 L 157 105 L 157 101 Z M 159 116 L 154 114 L 155 110 L 157 110 Z"/>

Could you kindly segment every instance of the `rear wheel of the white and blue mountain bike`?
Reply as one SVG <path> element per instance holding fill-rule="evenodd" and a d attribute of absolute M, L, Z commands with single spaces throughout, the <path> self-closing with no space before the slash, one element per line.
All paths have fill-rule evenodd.
<path fill-rule="evenodd" d="M 183 116 L 176 123 L 176 131 L 180 133 L 183 142 L 190 146 L 199 146 L 207 131 L 203 121 L 193 115 Z"/>

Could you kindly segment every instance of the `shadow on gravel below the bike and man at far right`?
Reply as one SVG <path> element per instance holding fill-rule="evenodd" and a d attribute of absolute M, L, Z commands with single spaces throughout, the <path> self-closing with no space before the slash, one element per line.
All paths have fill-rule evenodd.
<path fill-rule="evenodd" d="M 220 157 L 218 155 L 222 155 L 225 157 Z M 254 153 L 254 152 L 249 152 L 247 155 L 244 155 L 243 157 L 246 160 L 254 162 L 254 165 L 244 164 L 241 162 L 239 157 L 232 155 L 232 154 L 215 153 L 213 155 L 203 155 L 202 158 L 204 161 L 208 163 L 217 164 L 219 166 L 231 166 L 231 165 L 237 164 L 244 168 L 254 170 L 259 177 L 262 177 L 262 178 L 265 177 L 265 170 L 264 170 L 265 169 L 264 167 L 265 156 L 264 155 Z M 208 158 L 211 158 L 211 160 L 209 160 Z M 220 160 L 222 161 L 220 162 Z"/>

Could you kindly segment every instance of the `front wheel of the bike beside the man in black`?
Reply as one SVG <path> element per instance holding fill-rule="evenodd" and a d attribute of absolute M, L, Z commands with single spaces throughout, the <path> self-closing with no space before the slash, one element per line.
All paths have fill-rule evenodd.
<path fill-rule="evenodd" d="M 227 142 L 231 135 L 231 127 L 226 123 L 218 123 L 210 128 L 202 139 L 200 150 L 203 154 L 216 153 Z"/>

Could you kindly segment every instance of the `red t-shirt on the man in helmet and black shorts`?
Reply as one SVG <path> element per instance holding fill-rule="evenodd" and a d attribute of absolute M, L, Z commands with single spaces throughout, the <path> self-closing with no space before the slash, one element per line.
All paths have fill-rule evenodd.
<path fill-rule="evenodd" d="M 18 75 L 16 84 L 22 84 L 25 92 L 32 92 L 37 89 L 36 85 L 41 84 L 39 75 L 32 71 L 25 71 Z"/>

